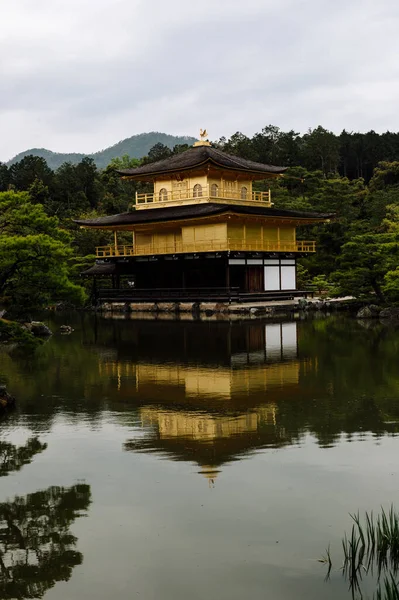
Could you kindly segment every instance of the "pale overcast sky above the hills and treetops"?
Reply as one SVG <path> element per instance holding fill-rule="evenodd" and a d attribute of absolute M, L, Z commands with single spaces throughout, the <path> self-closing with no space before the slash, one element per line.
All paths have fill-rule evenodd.
<path fill-rule="evenodd" d="M 399 130 L 397 0 L 0 0 L 0 161 L 147 131 Z"/>

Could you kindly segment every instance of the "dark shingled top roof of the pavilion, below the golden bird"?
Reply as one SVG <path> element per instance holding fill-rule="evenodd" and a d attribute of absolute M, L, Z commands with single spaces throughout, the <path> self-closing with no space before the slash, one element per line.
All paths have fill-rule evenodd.
<path fill-rule="evenodd" d="M 146 175 L 150 177 L 155 174 L 178 173 L 180 171 L 200 167 L 207 163 L 233 171 L 258 173 L 259 175 L 265 176 L 270 174 L 279 175 L 280 173 L 284 173 L 288 168 L 265 165 L 252 160 L 246 160 L 245 158 L 239 158 L 238 156 L 226 154 L 211 146 L 196 146 L 185 152 L 181 152 L 180 154 L 175 154 L 170 158 L 158 160 L 157 162 L 143 165 L 136 169 L 119 170 L 117 173 L 119 173 L 119 175 L 144 179 L 144 176 Z"/>

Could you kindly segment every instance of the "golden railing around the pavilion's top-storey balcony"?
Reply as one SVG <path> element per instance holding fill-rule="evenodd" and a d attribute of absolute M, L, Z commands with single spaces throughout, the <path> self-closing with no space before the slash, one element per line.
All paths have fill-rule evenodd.
<path fill-rule="evenodd" d="M 158 194 L 139 194 L 136 193 L 136 208 L 145 205 L 146 208 L 156 208 L 159 206 L 167 206 L 181 203 L 194 202 L 221 202 L 228 200 L 233 204 L 260 203 L 262 206 L 272 206 L 270 190 L 267 192 L 252 192 L 244 191 L 243 189 L 231 190 L 218 187 L 215 189 L 213 185 L 203 185 L 201 189 L 198 187 L 186 188 L 168 191 Z"/>

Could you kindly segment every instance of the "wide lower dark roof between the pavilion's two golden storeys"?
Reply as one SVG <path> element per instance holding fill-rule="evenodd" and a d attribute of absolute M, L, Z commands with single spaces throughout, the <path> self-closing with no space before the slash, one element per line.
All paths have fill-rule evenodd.
<path fill-rule="evenodd" d="M 263 217 L 286 217 L 303 219 L 318 219 L 325 221 L 334 217 L 333 213 L 312 213 L 298 210 L 282 210 L 278 208 L 266 208 L 263 206 L 242 206 L 233 204 L 216 204 L 207 202 L 204 204 L 188 204 L 185 206 L 170 206 L 167 208 L 149 208 L 147 210 L 135 210 L 130 213 L 111 215 L 109 217 L 98 217 L 97 219 L 75 220 L 78 225 L 86 227 L 112 227 L 121 225 L 138 225 L 141 223 L 159 223 L 160 221 L 176 221 L 179 219 L 196 219 L 220 215 L 232 212 L 239 215 L 255 215 Z"/>

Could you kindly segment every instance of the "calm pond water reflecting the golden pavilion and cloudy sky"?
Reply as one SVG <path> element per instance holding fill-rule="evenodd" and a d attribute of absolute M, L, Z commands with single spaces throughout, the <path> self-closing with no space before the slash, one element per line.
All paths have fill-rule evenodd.
<path fill-rule="evenodd" d="M 0 354 L 0 598 L 350 597 L 348 513 L 399 506 L 398 330 L 47 320 Z"/>

